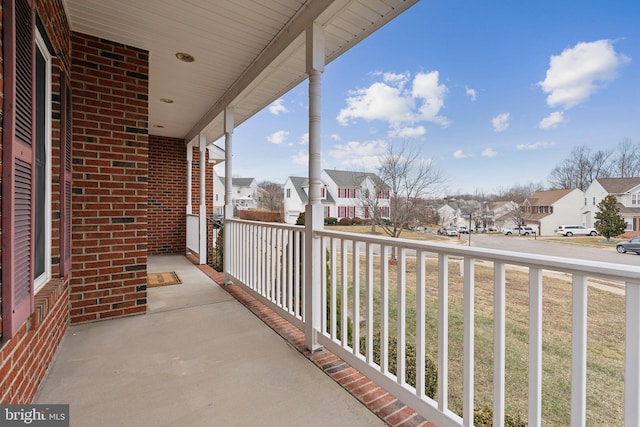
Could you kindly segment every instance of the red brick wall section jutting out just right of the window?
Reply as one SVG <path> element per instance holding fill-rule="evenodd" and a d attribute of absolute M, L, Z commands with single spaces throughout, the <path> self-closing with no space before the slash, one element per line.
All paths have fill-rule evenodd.
<path fill-rule="evenodd" d="M 73 33 L 71 322 L 146 312 L 146 51 Z"/>

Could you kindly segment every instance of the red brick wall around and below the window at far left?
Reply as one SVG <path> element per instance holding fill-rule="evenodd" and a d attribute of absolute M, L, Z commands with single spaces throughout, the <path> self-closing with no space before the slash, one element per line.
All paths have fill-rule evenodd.
<path fill-rule="evenodd" d="M 0 403 L 30 403 L 64 336 L 69 322 L 69 275 L 59 278 L 60 230 L 60 76 L 70 70 L 70 30 L 61 0 L 37 2 L 38 16 L 55 50 L 52 59 L 51 264 L 53 279 L 34 298 L 35 312 L 0 348 Z M 0 15 L 0 19 L 2 19 Z M 0 50 L 0 55 L 2 51 Z M 2 75 L 0 83 L 4 87 Z M 0 110 L 2 109 L 0 94 Z M 2 139 L 0 138 L 0 158 Z M 2 174 L 0 173 L 0 180 Z M 1 224 L 1 221 L 0 221 Z M 0 225 L 1 227 L 1 225 Z M 0 253 L 1 255 L 1 253 Z M 1 260 L 1 257 L 0 257 Z M 0 261 L 1 262 L 1 261 Z M 1 330 L 0 319 L 0 330 Z"/>

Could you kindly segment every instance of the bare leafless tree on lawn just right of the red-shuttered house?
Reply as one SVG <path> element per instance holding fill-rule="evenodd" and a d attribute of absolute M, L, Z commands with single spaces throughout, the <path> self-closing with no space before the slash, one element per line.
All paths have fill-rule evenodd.
<path fill-rule="evenodd" d="M 443 174 L 430 160 L 420 157 L 420 152 L 406 143 L 399 148 L 389 145 L 380 159 L 378 175 L 390 188 L 390 218 L 378 225 L 391 237 L 400 237 L 409 221 L 418 217 L 420 201 L 444 182 Z"/>

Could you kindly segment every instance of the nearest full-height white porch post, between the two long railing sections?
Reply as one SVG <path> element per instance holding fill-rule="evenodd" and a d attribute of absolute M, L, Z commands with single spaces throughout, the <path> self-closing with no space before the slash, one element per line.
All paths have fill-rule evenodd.
<path fill-rule="evenodd" d="M 317 331 L 320 330 L 322 301 L 320 288 L 324 274 L 321 238 L 315 231 L 324 228 L 320 188 L 320 83 L 324 71 L 324 30 L 313 23 L 306 33 L 306 66 L 309 75 L 309 203 L 305 210 L 305 294 L 304 342 L 310 351 L 320 349 Z"/>

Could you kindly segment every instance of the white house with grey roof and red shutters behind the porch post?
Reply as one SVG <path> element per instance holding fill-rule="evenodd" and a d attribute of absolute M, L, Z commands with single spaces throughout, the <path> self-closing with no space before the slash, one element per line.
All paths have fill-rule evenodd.
<path fill-rule="evenodd" d="M 373 209 L 377 209 L 381 218 L 389 218 L 389 186 L 376 174 L 324 170 L 321 179 L 325 218 L 370 219 L 374 216 Z M 289 177 L 284 184 L 285 222 L 295 224 L 308 201 L 309 180 Z"/>

